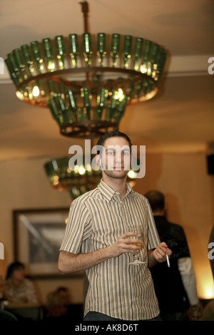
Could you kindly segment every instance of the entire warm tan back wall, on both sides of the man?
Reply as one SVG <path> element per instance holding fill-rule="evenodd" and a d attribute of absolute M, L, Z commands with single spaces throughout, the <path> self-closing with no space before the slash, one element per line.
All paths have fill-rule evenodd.
<path fill-rule="evenodd" d="M 51 189 L 43 168 L 47 160 L 49 158 L 0 163 L 0 242 L 5 247 L 0 274 L 3 276 L 7 265 L 14 260 L 12 211 L 67 207 L 71 203 L 67 192 Z M 214 222 L 213 194 L 205 153 L 146 154 L 146 176 L 137 180 L 134 190 L 144 194 L 151 189 L 165 193 L 168 219 L 185 229 L 199 297 L 214 297 L 208 260 L 208 239 Z M 71 290 L 73 302 L 83 301 L 83 279 L 46 279 L 37 280 L 35 284 L 43 303 L 47 293 L 62 285 Z"/>

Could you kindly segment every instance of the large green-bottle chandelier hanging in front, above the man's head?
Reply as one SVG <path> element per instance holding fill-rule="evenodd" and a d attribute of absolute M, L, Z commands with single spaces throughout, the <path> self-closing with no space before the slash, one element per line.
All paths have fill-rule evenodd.
<path fill-rule="evenodd" d="M 117 130 L 126 106 L 153 98 L 166 53 L 145 38 L 88 32 L 32 41 L 9 53 L 6 66 L 16 96 L 49 108 L 60 133 L 95 138 Z"/>

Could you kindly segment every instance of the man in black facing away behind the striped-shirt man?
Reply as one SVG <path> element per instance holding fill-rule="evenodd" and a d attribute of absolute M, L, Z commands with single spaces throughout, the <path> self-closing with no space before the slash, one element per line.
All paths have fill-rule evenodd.
<path fill-rule="evenodd" d="M 161 241 L 173 252 L 170 267 L 158 264 L 151 269 L 158 297 L 161 318 L 164 321 L 186 321 L 189 304 L 190 316 L 198 319 L 200 304 L 195 286 L 195 274 L 183 228 L 165 218 L 165 197 L 161 192 L 149 191 L 148 199 Z"/>

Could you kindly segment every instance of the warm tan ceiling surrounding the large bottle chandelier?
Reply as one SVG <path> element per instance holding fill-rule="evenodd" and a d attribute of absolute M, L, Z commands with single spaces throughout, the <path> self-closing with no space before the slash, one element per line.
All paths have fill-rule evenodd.
<path fill-rule="evenodd" d="M 78 0 L 2 1 L 2 58 L 45 37 L 83 33 Z M 213 0 L 88 0 L 91 33 L 143 37 L 168 53 L 155 98 L 126 108 L 120 130 L 147 152 L 198 152 L 214 142 Z M 214 68 L 214 67 L 213 67 Z M 21 102 L 4 68 L 0 74 L 0 160 L 59 157 L 83 140 L 60 135 L 46 108 Z"/>

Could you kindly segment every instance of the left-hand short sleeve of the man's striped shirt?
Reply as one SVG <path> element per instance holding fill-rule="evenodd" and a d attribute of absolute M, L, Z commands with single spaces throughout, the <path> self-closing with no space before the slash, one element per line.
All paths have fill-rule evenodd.
<path fill-rule="evenodd" d="M 73 200 L 68 213 L 66 231 L 60 250 L 78 254 L 81 245 L 91 234 L 91 217 L 85 202 L 79 197 Z"/>

